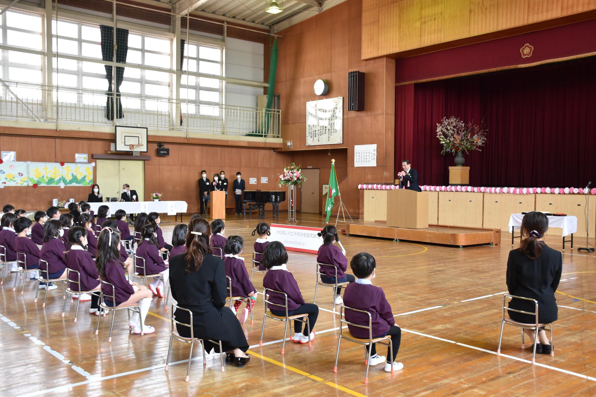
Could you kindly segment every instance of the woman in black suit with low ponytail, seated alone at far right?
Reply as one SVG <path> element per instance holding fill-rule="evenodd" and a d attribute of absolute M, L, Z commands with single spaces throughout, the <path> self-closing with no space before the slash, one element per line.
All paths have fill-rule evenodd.
<path fill-rule="evenodd" d="M 557 250 L 548 247 L 542 239 L 548 230 L 548 218 L 542 212 L 529 212 L 522 219 L 521 247 L 509 252 L 507 260 L 507 289 L 511 295 L 536 299 L 538 301 L 538 321 L 542 324 L 557 321 L 557 302 L 555 291 L 561 280 L 563 256 Z M 524 299 L 511 299 L 511 309 L 535 312 L 533 302 Z M 509 317 L 518 322 L 535 324 L 534 315 L 508 311 Z M 524 329 L 534 340 L 534 331 Z M 536 353 L 551 353 L 544 330 L 539 331 L 541 346 L 536 346 Z"/>

